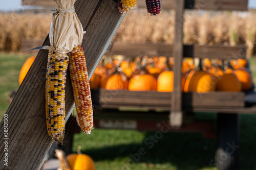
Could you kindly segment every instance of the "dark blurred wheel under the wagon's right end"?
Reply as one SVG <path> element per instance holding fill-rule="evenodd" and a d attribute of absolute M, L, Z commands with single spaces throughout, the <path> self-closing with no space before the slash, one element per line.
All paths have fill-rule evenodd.
<path fill-rule="evenodd" d="M 220 170 L 237 169 L 239 154 L 239 114 L 219 113 L 216 165 Z"/>

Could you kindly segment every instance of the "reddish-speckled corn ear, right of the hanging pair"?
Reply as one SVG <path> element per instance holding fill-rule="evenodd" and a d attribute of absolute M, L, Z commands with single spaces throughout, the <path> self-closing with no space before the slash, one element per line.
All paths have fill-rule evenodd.
<path fill-rule="evenodd" d="M 86 58 L 82 46 L 75 46 L 68 55 L 78 123 L 85 134 L 90 134 L 93 128 L 93 108 Z"/>

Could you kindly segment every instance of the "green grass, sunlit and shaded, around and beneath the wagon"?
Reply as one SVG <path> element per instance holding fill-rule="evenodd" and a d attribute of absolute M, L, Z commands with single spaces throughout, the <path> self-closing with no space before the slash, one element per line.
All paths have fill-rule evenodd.
<path fill-rule="evenodd" d="M 6 112 L 8 91 L 18 88 L 18 75 L 28 55 L 0 54 L 0 117 Z M 250 59 L 256 84 L 256 58 Z M 215 121 L 217 114 L 197 113 L 200 120 Z M 256 115 L 241 115 L 240 169 L 256 169 Z M 73 152 L 78 145 L 82 153 L 90 155 L 97 170 L 100 169 L 216 169 L 210 165 L 215 160 L 216 139 L 205 139 L 199 133 L 166 133 L 152 148 L 146 139 L 155 132 L 133 130 L 94 129 L 91 135 L 75 134 Z M 145 155 L 133 161 L 130 154 L 145 149 Z"/>

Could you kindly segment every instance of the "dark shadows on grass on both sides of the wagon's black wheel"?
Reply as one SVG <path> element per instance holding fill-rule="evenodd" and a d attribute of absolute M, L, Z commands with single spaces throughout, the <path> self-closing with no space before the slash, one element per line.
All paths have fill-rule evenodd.
<path fill-rule="evenodd" d="M 239 169 L 256 169 L 255 115 L 241 115 Z M 124 131 L 125 133 L 125 131 Z M 132 136 L 131 136 L 132 137 Z M 157 139 L 158 138 L 158 139 Z M 136 163 L 171 163 L 178 169 L 201 169 L 214 167 L 216 139 L 205 139 L 199 133 L 145 132 L 141 143 L 117 144 L 100 149 L 87 149 L 83 153 L 94 161 L 129 158 Z"/>

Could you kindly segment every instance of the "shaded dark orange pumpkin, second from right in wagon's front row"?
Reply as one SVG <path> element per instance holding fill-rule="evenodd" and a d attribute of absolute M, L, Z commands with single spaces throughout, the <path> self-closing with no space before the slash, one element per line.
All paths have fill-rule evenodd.
<path fill-rule="evenodd" d="M 242 84 L 232 72 L 217 77 L 216 90 L 218 91 L 241 91 Z"/>

